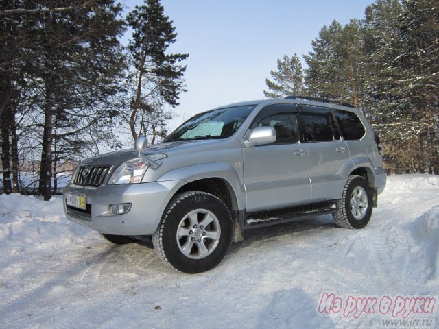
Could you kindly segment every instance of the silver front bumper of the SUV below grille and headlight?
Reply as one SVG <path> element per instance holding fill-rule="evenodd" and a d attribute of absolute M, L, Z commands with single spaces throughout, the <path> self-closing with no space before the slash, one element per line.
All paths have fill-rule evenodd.
<path fill-rule="evenodd" d="M 68 184 L 64 188 L 64 212 L 67 219 L 98 232 L 115 235 L 154 234 L 165 207 L 182 180 L 126 185 L 104 185 L 98 188 Z M 67 206 L 65 195 L 85 195 L 87 210 Z M 123 215 L 111 215 L 110 204 L 132 204 Z"/>

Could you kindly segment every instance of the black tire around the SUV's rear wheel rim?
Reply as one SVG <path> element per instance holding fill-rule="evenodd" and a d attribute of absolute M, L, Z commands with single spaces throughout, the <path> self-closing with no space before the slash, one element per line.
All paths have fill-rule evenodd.
<path fill-rule="evenodd" d="M 364 215 L 361 217 L 360 214 L 360 219 L 355 218 L 353 210 L 351 210 L 351 196 L 356 188 L 362 188 L 366 193 L 365 197 L 367 197 L 367 206 L 364 206 L 364 200 L 361 201 L 363 202 L 361 211 L 364 211 Z M 357 200 L 355 200 L 355 202 L 357 202 Z M 353 202 L 354 208 L 355 202 Z M 333 217 L 335 223 L 342 228 L 364 228 L 364 226 L 370 221 L 372 208 L 372 189 L 368 182 L 361 176 L 349 176 L 346 185 L 344 186 L 342 197 L 337 202 L 337 211 L 334 213 Z M 357 214 L 359 214 L 359 212 Z"/>

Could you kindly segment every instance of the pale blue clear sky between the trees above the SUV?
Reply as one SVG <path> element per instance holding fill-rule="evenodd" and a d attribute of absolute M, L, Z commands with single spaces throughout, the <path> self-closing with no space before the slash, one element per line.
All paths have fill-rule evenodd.
<path fill-rule="evenodd" d="M 141 0 L 123 1 L 126 12 Z M 198 112 L 263 99 L 265 78 L 285 54 L 311 51 L 323 25 L 364 18 L 372 0 L 162 0 L 178 34 L 170 52 L 185 60 L 187 92 L 169 122 L 173 130 Z M 123 42 L 130 38 L 128 30 Z M 303 62 L 303 60 L 302 60 Z M 304 63 L 305 64 L 305 63 Z"/>

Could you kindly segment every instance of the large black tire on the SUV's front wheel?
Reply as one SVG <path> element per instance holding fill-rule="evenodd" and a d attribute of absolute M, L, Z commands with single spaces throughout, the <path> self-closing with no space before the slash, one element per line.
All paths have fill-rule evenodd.
<path fill-rule="evenodd" d="M 202 213 L 199 213 L 198 210 L 206 210 L 215 217 L 215 220 L 208 224 L 204 230 L 200 230 L 200 228 L 202 228 L 201 224 L 207 217 L 202 217 Z M 197 212 L 195 221 L 189 222 L 187 215 L 192 212 Z M 196 228 L 196 224 L 193 226 L 195 222 L 199 224 L 198 228 Z M 195 229 L 193 229 L 194 227 Z M 182 232 L 180 229 L 198 235 L 194 238 L 195 235 L 190 237 L 187 233 L 187 236 L 180 236 L 177 239 L 177 232 Z M 212 240 L 208 236 L 204 237 L 204 234 L 209 235 L 209 232 L 213 232 L 211 230 L 215 230 L 218 234 L 217 239 Z M 189 245 L 189 239 L 196 240 L 190 244 L 191 247 L 187 248 L 187 254 L 185 254 L 183 252 L 185 248 L 183 247 L 186 244 Z M 210 193 L 188 191 L 171 199 L 163 212 L 163 217 L 156 232 L 152 236 L 152 243 L 158 257 L 165 264 L 185 273 L 200 273 L 209 271 L 221 262 L 232 244 L 232 239 L 233 221 L 224 202 Z M 199 247 L 201 243 L 206 246 L 206 249 L 211 247 L 206 256 L 201 256 L 202 250 Z M 202 258 L 193 259 L 191 257 Z"/>

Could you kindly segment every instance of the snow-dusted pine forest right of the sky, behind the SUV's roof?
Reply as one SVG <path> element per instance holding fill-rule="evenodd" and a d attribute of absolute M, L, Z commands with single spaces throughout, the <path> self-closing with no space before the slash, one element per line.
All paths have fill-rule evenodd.
<path fill-rule="evenodd" d="M 266 97 L 308 95 L 359 108 L 388 173 L 439 174 L 439 1 L 377 0 L 364 19 L 324 26 L 304 56 L 278 59 Z"/>

